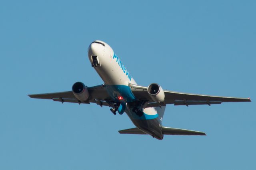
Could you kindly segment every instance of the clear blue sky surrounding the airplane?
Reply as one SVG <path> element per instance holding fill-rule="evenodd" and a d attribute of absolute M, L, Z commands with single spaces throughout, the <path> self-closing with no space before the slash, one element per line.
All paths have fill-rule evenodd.
<path fill-rule="evenodd" d="M 1 170 L 256 169 L 255 1 L 1 1 Z M 119 134 L 108 107 L 30 99 L 103 81 L 88 45 L 103 40 L 139 85 L 250 97 L 168 105 L 167 127 L 207 136 Z"/>

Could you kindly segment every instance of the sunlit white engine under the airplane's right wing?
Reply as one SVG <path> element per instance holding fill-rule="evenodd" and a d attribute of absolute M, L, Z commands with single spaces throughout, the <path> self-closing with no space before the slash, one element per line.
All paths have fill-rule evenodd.
<path fill-rule="evenodd" d="M 155 102 L 164 102 L 164 90 L 162 87 L 156 83 L 152 83 L 148 86 L 148 94 L 151 99 Z"/>

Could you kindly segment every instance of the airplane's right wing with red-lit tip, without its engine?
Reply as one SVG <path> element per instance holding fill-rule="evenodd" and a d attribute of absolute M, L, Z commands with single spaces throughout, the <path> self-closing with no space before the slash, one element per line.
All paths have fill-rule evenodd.
<path fill-rule="evenodd" d="M 237 97 L 221 97 L 210 95 L 198 95 L 190 93 L 180 93 L 175 91 L 164 90 L 164 102 L 154 102 L 148 94 L 147 87 L 130 84 L 132 93 L 137 99 L 147 101 L 144 107 L 158 107 L 166 104 L 174 105 L 212 105 L 221 104 L 222 102 L 250 102 L 250 98 L 237 98 Z"/>

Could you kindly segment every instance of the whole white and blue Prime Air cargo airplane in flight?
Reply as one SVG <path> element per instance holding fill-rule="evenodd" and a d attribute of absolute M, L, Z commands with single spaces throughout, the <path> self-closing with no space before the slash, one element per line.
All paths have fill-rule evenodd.
<path fill-rule="evenodd" d="M 124 63 L 107 43 L 96 40 L 88 47 L 88 57 L 92 67 L 104 84 L 87 87 L 76 82 L 72 91 L 28 95 L 31 98 L 52 99 L 68 103 L 96 103 L 111 107 L 116 115 L 124 112 L 134 128 L 119 130 L 120 134 L 149 134 L 162 140 L 164 135 L 206 135 L 204 132 L 162 126 L 165 107 L 176 105 L 214 105 L 222 102 L 250 102 L 250 98 L 220 97 L 179 93 L 163 90 L 157 83 L 148 87 L 137 85 Z"/>

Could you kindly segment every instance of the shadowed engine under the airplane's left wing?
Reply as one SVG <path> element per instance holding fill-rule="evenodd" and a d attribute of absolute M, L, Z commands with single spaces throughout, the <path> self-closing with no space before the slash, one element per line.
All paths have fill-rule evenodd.
<path fill-rule="evenodd" d="M 79 101 L 87 101 L 89 98 L 89 92 L 87 87 L 82 82 L 76 82 L 72 86 L 73 94 Z"/>

